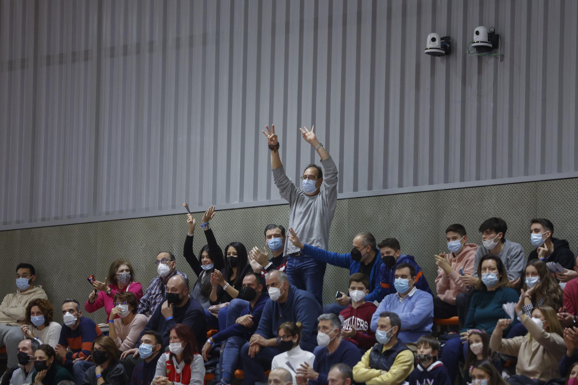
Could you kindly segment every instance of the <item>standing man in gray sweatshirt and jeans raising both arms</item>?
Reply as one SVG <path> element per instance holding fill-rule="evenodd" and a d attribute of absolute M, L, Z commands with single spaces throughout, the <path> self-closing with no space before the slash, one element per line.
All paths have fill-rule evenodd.
<path fill-rule="evenodd" d="M 266 126 L 269 150 L 271 150 L 271 168 L 273 181 L 281 197 L 289 202 L 289 227 L 294 228 L 302 242 L 307 245 L 327 250 L 329 228 L 337 205 L 337 166 L 327 150 L 307 127 L 299 130 L 303 139 L 316 150 L 321 157 L 323 169 L 315 164 L 307 165 L 301 177 L 301 188 L 295 186 L 285 173 L 279 157 L 279 142 L 275 134 L 275 125 Z M 325 171 L 325 178 L 323 177 Z M 323 185 L 323 190 L 321 190 Z M 291 242 L 285 243 L 284 254 L 287 259 L 287 276 L 291 284 L 299 289 L 309 291 L 322 304 L 323 276 L 325 262 L 318 262 L 304 254 Z"/>

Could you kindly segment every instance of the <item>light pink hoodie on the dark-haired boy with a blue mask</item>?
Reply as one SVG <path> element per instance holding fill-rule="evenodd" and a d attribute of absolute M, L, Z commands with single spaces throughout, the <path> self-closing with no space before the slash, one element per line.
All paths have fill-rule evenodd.
<path fill-rule="evenodd" d="M 466 286 L 460 280 L 460 269 L 464 269 L 466 275 L 473 274 L 473 262 L 476 257 L 477 245 L 475 243 L 466 243 L 464 250 L 454 257 L 454 253 L 446 254 L 451 268 L 454 269 L 449 276 L 438 268 L 438 277 L 435 279 L 436 291 L 442 301 L 455 305 L 455 296 L 464 293 Z"/>

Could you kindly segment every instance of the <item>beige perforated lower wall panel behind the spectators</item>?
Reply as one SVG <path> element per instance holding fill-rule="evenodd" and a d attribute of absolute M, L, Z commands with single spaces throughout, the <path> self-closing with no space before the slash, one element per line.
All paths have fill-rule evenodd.
<path fill-rule="evenodd" d="M 462 223 L 469 240 L 479 244 L 481 236 L 477 228 L 481 222 L 500 216 L 509 225 L 506 238 L 521 243 L 528 255 L 529 219 L 547 217 L 554 223 L 554 236 L 567 239 L 576 251 L 577 191 L 578 179 L 565 179 L 343 199 L 338 201 L 329 248 L 349 251 L 351 239 L 360 231 L 371 231 L 378 241 L 394 236 L 401 242 L 402 253 L 416 257 L 435 289 L 433 254 L 446 250 L 444 230 L 452 223 Z M 195 214 L 197 220 L 201 216 Z M 212 226 L 221 246 L 239 240 L 249 249 L 265 245 L 263 229 L 267 224 L 286 226 L 287 217 L 287 205 L 227 210 L 217 212 Z M 153 261 L 161 250 L 173 251 L 178 268 L 190 275 L 194 283 L 196 276 L 182 257 L 187 233 L 185 219 L 183 214 L 0 232 L 3 255 L 0 295 L 16 289 L 14 269 L 18 262 L 36 267 L 38 283 L 45 287 L 57 308 L 65 297 L 86 301 L 91 290 L 86 277 L 95 274 L 97 279 L 104 279 L 116 258 L 131 261 L 136 279 L 146 287 L 157 275 Z M 203 245 L 205 236 L 199 228 L 195 231 L 195 253 Z M 346 290 L 348 276 L 346 269 L 328 266 L 324 278 L 325 303 L 333 301 L 336 290 Z M 85 315 L 95 321 L 105 320 L 104 310 Z M 61 321 L 60 314 L 57 321 Z"/>

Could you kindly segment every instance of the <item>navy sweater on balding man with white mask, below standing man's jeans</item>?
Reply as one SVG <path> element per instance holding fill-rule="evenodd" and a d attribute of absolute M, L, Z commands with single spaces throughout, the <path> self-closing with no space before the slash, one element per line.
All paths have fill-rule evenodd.
<path fill-rule="evenodd" d="M 295 286 L 289 287 L 285 303 L 267 301 L 255 334 L 265 338 L 277 335 L 277 328 L 284 322 L 301 322 L 301 349 L 313 351 L 317 346 L 317 317 L 323 313 L 321 305 L 311 293 Z"/>

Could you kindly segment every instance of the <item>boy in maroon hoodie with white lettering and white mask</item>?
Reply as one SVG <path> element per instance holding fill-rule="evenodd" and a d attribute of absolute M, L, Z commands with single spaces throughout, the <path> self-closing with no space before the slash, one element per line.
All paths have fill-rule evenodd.
<path fill-rule="evenodd" d="M 351 303 L 339 313 L 343 328 L 341 336 L 353 342 L 360 350 L 367 351 L 375 345 L 375 332 L 369 326 L 377 306 L 365 302 L 369 293 L 369 277 L 364 273 L 353 273 L 349 276 L 349 297 Z"/>

